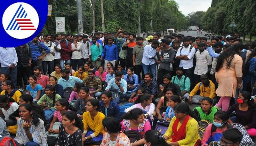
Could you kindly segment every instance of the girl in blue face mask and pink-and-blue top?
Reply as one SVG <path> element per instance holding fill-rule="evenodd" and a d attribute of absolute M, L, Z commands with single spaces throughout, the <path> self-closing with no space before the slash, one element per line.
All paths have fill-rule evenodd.
<path fill-rule="evenodd" d="M 222 132 L 231 128 L 232 126 L 228 124 L 228 113 L 217 111 L 214 114 L 213 123 L 209 124 L 205 129 L 201 142 L 202 146 L 208 146 L 210 142 L 219 141 L 222 137 Z"/>

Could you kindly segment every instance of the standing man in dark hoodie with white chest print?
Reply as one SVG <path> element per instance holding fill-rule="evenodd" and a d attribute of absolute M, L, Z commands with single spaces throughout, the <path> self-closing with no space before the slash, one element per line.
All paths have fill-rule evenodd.
<path fill-rule="evenodd" d="M 172 74 L 173 67 L 172 62 L 173 58 L 175 56 L 174 49 L 170 46 L 170 39 L 169 38 L 163 38 L 161 45 L 164 47 L 164 49 L 161 51 L 160 54 L 160 60 L 161 64 L 159 66 L 159 71 L 157 74 L 157 83 L 158 85 L 163 82 L 163 76 L 165 74 Z"/>

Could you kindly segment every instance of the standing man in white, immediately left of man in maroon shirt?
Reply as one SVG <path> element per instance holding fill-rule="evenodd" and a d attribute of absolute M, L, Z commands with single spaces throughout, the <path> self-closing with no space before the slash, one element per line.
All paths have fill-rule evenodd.
<path fill-rule="evenodd" d="M 61 39 L 61 35 L 60 34 L 56 34 L 54 37 L 52 36 L 52 42 L 54 42 L 55 46 L 54 46 L 54 66 L 55 65 L 60 65 L 60 39 Z"/>

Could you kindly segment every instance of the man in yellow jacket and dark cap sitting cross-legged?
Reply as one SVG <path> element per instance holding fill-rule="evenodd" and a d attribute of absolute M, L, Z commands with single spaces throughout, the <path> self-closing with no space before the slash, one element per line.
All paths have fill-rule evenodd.
<path fill-rule="evenodd" d="M 197 83 L 195 88 L 190 92 L 188 96 L 188 103 L 202 104 L 204 97 L 215 97 L 215 85 L 211 80 L 208 80 L 207 74 L 200 76 L 201 82 Z M 200 95 L 196 95 L 197 91 L 200 90 Z"/>

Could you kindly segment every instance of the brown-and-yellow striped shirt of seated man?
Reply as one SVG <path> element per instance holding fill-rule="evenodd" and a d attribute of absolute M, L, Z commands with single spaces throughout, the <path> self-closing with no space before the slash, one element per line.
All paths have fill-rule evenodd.
<path fill-rule="evenodd" d="M 84 79 L 84 86 L 87 86 L 89 89 L 93 88 L 96 92 L 101 92 L 102 90 L 102 84 L 101 80 L 99 78 L 93 78 L 93 80 L 90 80 L 88 77 Z"/>

